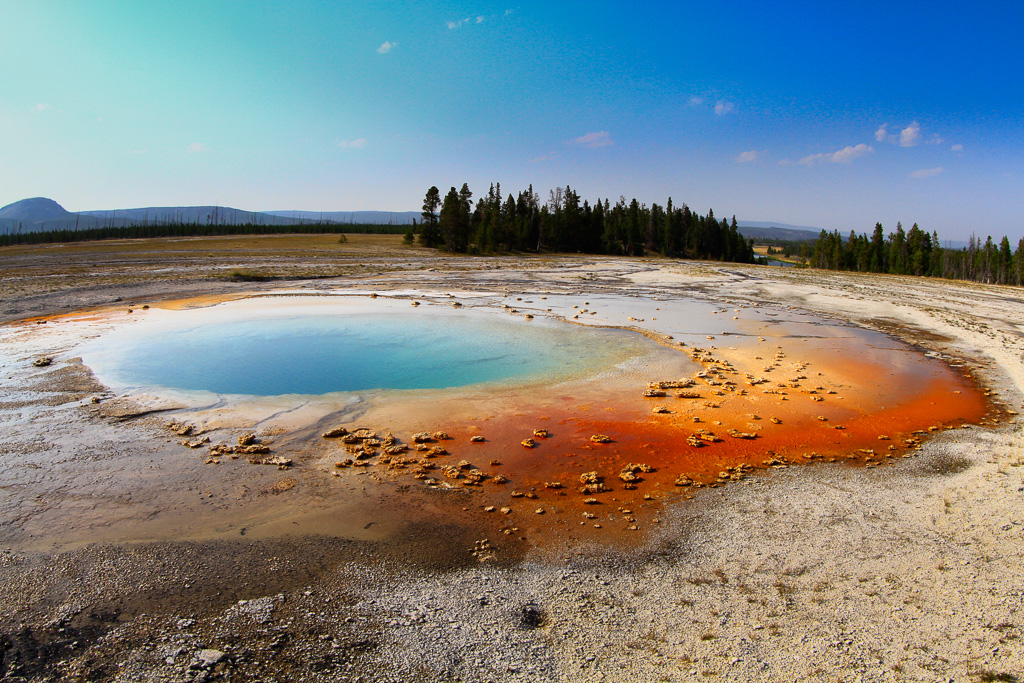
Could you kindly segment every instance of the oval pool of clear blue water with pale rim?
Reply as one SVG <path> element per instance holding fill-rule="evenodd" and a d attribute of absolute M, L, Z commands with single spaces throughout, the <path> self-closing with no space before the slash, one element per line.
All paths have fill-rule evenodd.
<path fill-rule="evenodd" d="M 273 396 L 567 378 L 636 352 L 620 333 L 468 309 L 181 317 L 101 338 L 83 360 L 123 387 Z"/>

